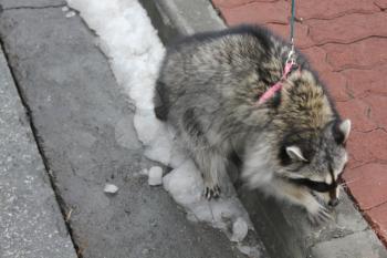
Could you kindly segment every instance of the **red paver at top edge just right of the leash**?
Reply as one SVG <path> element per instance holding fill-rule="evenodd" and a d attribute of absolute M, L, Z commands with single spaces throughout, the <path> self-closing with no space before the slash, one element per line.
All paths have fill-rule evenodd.
<path fill-rule="evenodd" d="M 364 0 L 299 0 L 296 2 L 296 16 L 303 19 L 333 19 L 354 12 L 373 13 L 376 11 L 379 11 L 379 8 L 372 1 Z"/>

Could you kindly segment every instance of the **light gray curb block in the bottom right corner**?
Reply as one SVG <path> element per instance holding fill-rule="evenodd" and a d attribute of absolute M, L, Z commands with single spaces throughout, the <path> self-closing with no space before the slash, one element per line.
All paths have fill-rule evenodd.
<path fill-rule="evenodd" d="M 367 245 L 364 242 L 367 241 Z M 355 233 L 315 245 L 308 257 L 318 258 L 386 258 L 387 252 L 372 230 Z"/>

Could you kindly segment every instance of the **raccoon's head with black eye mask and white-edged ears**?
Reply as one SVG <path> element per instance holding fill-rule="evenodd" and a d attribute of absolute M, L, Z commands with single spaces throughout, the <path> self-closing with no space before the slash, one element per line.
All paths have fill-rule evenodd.
<path fill-rule="evenodd" d="M 297 132 L 285 136 L 280 151 L 282 173 L 325 205 L 336 206 L 339 178 L 347 162 L 345 143 L 351 121 L 335 121 L 322 132 Z"/>

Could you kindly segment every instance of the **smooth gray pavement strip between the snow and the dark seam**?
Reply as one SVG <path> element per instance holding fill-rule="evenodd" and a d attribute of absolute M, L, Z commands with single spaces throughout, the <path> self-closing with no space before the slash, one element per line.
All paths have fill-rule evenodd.
<path fill-rule="evenodd" d="M 138 175 L 154 164 L 144 158 L 133 106 L 85 23 L 65 18 L 61 1 L 25 2 L 0 1 L 8 7 L 0 39 L 82 257 L 243 257 L 222 233 L 189 223 L 164 189 Z M 118 193 L 104 194 L 105 183 Z"/>

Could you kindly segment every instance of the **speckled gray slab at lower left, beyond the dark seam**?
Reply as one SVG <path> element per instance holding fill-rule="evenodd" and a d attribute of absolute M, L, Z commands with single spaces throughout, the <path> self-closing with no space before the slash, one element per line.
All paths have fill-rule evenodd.
<path fill-rule="evenodd" d="M 77 257 L 1 50 L 0 257 Z"/>

